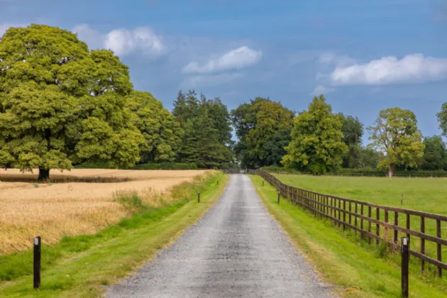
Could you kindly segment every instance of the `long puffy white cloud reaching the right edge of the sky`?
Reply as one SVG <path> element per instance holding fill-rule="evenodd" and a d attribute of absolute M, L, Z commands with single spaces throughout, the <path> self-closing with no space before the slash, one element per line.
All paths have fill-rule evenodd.
<path fill-rule="evenodd" d="M 329 75 L 331 85 L 382 85 L 438 81 L 447 77 L 447 59 L 422 54 L 382 57 L 365 64 L 336 67 Z"/>

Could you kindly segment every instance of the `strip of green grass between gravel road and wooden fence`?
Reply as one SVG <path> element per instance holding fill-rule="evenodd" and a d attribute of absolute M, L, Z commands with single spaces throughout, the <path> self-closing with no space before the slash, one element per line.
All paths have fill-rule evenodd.
<path fill-rule="evenodd" d="M 401 297 L 397 254 L 368 244 L 352 232 L 343 233 L 326 219 L 316 219 L 289 200 L 277 204 L 277 191 L 263 178 L 250 175 L 263 203 L 287 231 L 292 243 L 316 267 L 322 279 L 339 287 L 342 297 Z M 411 258 L 414 260 L 414 258 Z M 446 297 L 447 279 L 421 275 L 419 263 L 410 265 L 410 297 Z"/>

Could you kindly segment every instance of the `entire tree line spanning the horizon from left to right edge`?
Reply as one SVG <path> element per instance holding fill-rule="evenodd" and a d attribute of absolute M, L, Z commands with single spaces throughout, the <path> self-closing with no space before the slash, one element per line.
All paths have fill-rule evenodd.
<path fill-rule="evenodd" d="M 437 116 L 447 136 L 447 103 Z M 367 145 L 363 123 L 333 113 L 322 94 L 305 111 L 263 97 L 228 111 L 219 98 L 180 91 L 170 112 L 134 89 L 111 50 L 90 50 L 70 31 L 31 25 L 0 40 L 0 167 L 37 168 L 40 180 L 85 162 L 447 170 L 446 144 L 424 138 L 412 111 L 385 109 L 366 129 Z"/>

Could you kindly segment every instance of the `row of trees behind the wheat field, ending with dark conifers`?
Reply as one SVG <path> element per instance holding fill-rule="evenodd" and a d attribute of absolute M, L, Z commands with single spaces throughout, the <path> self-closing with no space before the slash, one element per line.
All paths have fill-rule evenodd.
<path fill-rule="evenodd" d="M 70 31 L 10 28 L 0 40 L 0 167 L 70 170 L 142 162 L 232 161 L 231 118 L 220 99 L 182 94 L 171 114 L 133 89 L 110 50 L 89 50 Z"/>

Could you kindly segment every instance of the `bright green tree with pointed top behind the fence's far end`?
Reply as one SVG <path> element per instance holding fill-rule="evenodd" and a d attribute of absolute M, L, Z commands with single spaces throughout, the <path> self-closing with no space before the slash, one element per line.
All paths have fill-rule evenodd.
<path fill-rule="evenodd" d="M 308 111 L 294 118 L 292 141 L 282 158 L 286 167 L 313 173 L 336 170 L 341 166 L 347 145 L 343 143 L 343 123 L 321 94 L 314 97 Z"/>

